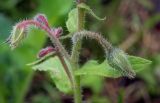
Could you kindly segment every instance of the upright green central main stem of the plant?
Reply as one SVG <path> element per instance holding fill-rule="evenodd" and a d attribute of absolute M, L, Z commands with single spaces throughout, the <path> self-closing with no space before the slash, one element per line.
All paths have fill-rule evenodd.
<path fill-rule="evenodd" d="M 77 5 L 83 3 L 84 0 L 77 0 Z M 78 8 L 78 31 L 83 30 L 84 28 L 84 19 L 85 19 L 85 12 L 83 9 Z M 79 68 L 79 54 L 81 49 L 81 40 L 78 41 L 77 45 L 73 46 L 72 54 L 71 54 L 71 62 L 73 70 Z M 82 103 L 82 94 L 81 94 L 81 86 L 80 86 L 80 76 L 75 76 L 74 82 L 74 103 Z"/>

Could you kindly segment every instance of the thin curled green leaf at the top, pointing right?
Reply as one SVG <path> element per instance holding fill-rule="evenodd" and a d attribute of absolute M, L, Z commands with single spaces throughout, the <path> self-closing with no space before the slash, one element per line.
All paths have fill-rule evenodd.
<path fill-rule="evenodd" d="M 85 9 L 88 13 L 90 13 L 93 17 L 95 17 L 95 18 L 98 19 L 98 20 L 105 20 L 105 19 L 106 19 L 106 17 L 104 17 L 104 18 L 98 17 L 98 16 L 93 12 L 93 10 L 92 10 L 88 5 L 86 5 L 85 3 L 79 4 L 78 7 L 79 7 L 79 8 L 82 8 L 82 9 Z"/>

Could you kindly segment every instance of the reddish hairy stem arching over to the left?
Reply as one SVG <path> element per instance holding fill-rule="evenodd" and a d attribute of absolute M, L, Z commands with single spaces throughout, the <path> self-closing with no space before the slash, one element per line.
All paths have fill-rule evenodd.
<path fill-rule="evenodd" d="M 46 27 L 45 25 L 42 25 L 41 23 L 39 23 L 37 21 L 34 21 L 34 20 L 25 20 L 25 21 L 17 24 L 17 28 L 20 28 L 23 25 L 26 25 L 26 26 L 34 25 L 34 26 L 39 27 L 42 30 L 47 32 L 47 35 L 50 38 L 50 40 L 52 41 L 53 45 L 58 48 L 58 51 L 59 51 L 58 57 L 61 60 L 61 63 L 64 66 L 64 69 L 65 69 L 65 72 L 66 72 L 66 74 L 67 74 L 68 78 L 70 79 L 71 84 L 73 86 L 73 82 L 75 81 L 73 71 L 69 70 L 69 68 L 67 67 L 66 62 L 64 60 L 64 57 L 65 57 L 69 62 L 71 62 L 70 56 L 67 53 L 67 51 L 65 50 L 65 48 L 63 47 L 63 45 L 60 43 L 59 39 L 51 31 L 51 29 Z"/>

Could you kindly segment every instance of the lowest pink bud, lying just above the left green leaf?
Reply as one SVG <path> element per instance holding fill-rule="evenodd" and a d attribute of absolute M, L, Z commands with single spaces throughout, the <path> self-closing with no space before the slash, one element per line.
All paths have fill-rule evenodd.
<path fill-rule="evenodd" d="M 41 57 L 44 57 L 45 55 L 51 53 L 51 52 L 54 52 L 56 51 L 55 48 L 51 47 L 51 46 L 48 46 L 44 49 L 42 49 L 39 53 L 38 53 L 38 58 L 41 58 Z"/>

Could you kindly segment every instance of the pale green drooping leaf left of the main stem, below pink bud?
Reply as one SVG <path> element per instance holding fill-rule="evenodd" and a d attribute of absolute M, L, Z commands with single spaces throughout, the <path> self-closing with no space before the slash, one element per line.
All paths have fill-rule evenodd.
<path fill-rule="evenodd" d="M 65 73 L 63 66 L 57 56 L 47 59 L 41 64 L 35 65 L 32 67 L 34 70 L 46 71 L 50 74 L 53 79 L 56 87 L 64 92 L 71 92 L 71 83 Z"/>

